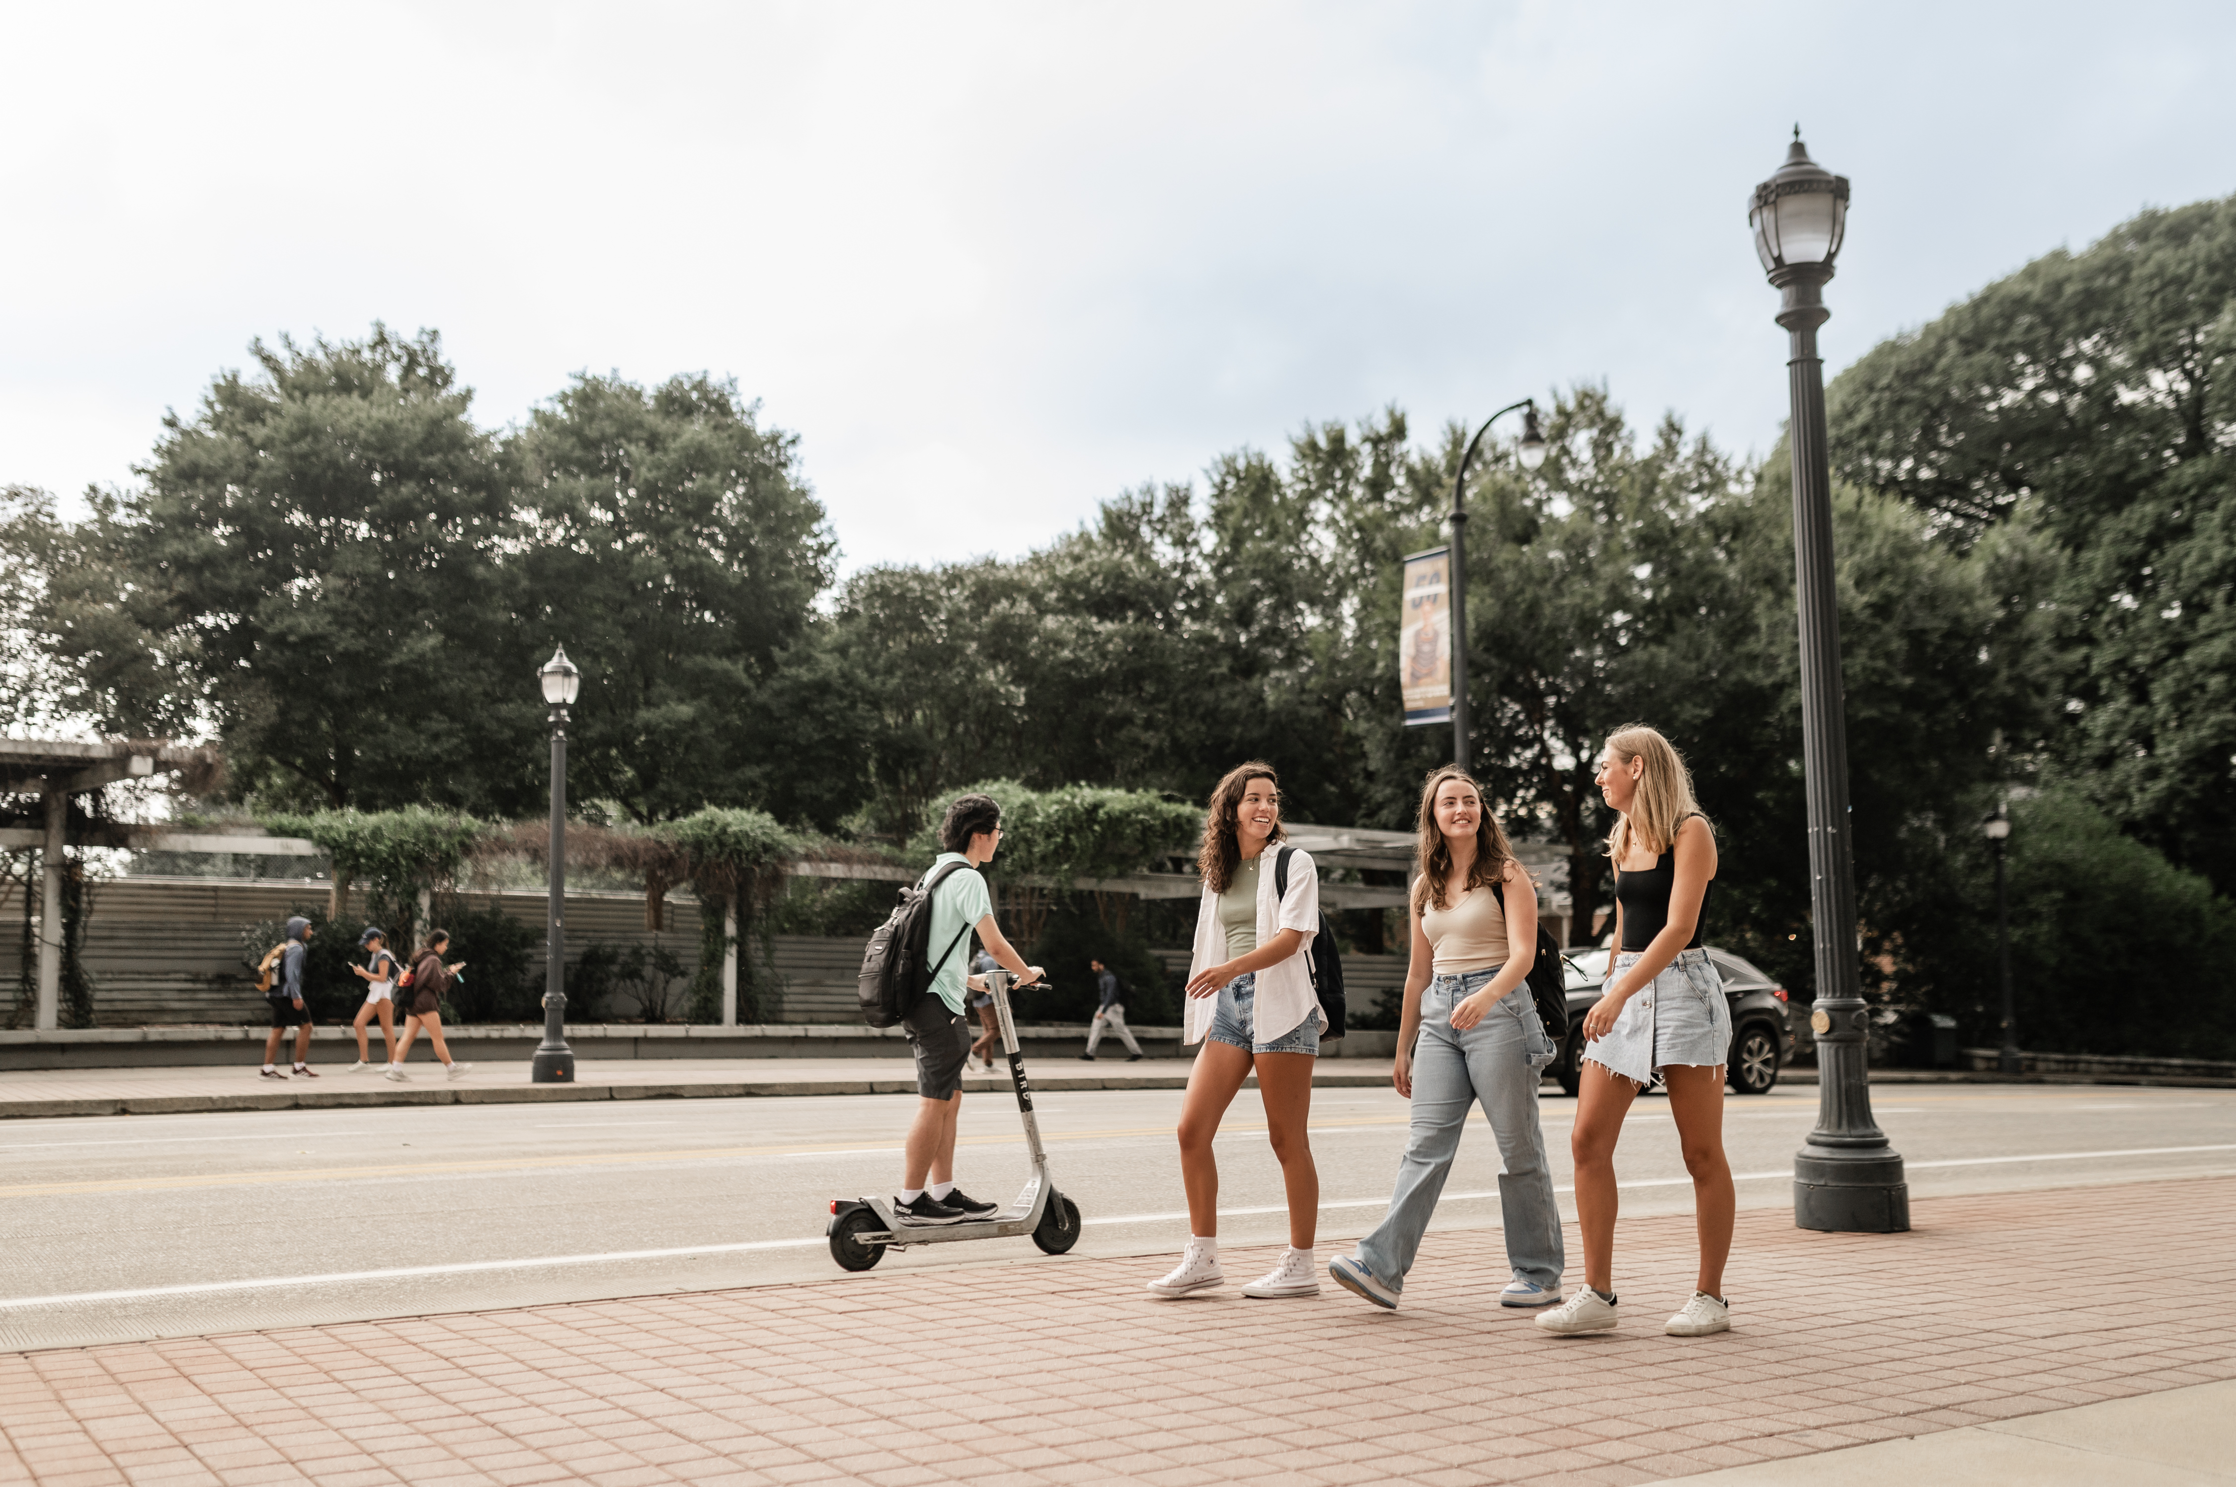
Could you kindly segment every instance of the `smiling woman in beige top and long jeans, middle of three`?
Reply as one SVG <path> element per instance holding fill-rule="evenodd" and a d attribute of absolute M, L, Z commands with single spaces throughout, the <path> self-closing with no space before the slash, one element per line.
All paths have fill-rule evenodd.
<path fill-rule="evenodd" d="M 1467 1111 L 1482 1105 L 1505 1163 L 1498 1203 L 1512 1279 L 1498 1304 L 1552 1306 L 1567 1257 L 1538 1125 L 1538 1073 L 1554 1060 L 1554 1044 L 1529 986 L 1550 950 L 1538 941 L 1536 883 L 1485 805 L 1482 787 L 1458 765 L 1444 765 L 1422 785 L 1418 827 L 1406 908 L 1413 962 L 1391 1069 L 1391 1085 L 1413 1102 L 1413 1129 L 1389 1214 L 1357 1250 L 1328 1261 L 1328 1275 L 1375 1306 L 1398 1306 Z M 1554 995 L 1565 995 L 1558 959 L 1552 950 L 1547 970 Z"/>

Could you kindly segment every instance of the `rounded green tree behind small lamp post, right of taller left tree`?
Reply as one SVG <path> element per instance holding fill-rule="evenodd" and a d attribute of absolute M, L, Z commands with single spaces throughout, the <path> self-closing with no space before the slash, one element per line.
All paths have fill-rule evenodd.
<path fill-rule="evenodd" d="M 821 749 L 771 709 L 803 700 L 771 689 L 814 655 L 809 606 L 834 559 L 796 438 L 758 427 L 736 382 L 579 376 L 510 452 L 523 619 L 584 669 L 570 765 L 588 794 L 637 823 L 821 801 L 800 783 Z"/>

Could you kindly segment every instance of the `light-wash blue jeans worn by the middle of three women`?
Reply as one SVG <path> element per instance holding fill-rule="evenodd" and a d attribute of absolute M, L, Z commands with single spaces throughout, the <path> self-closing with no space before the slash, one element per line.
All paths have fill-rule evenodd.
<path fill-rule="evenodd" d="M 1529 988 L 1516 986 L 1482 1022 L 1465 1033 L 1451 1031 L 1453 1004 L 1489 986 L 1494 975 L 1496 968 L 1440 975 L 1420 993 L 1413 1131 L 1398 1165 L 1391 1212 L 1357 1248 L 1357 1261 L 1391 1290 L 1404 1290 L 1404 1272 L 1413 1268 L 1420 1237 L 1460 1149 L 1460 1127 L 1478 1100 L 1505 1163 L 1498 1203 L 1507 1230 L 1507 1266 L 1518 1281 L 1547 1290 L 1561 1286 L 1567 1252 L 1561 1246 L 1561 1207 L 1552 1199 L 1552 1169 L 1545 1165 L 1545 1131 L 1536 1116 L 1538 1071 L 1552 1062 L 1552 1040 L 1529 1002 Z"/>

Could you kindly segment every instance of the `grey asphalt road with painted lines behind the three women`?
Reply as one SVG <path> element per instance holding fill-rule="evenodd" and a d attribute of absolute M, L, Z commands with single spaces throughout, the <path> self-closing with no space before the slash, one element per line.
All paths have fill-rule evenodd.
<path fill-rule="evenodd" d="M 1874 1093 L 1914 1196 L 2236 1172 L 2236 1091 Z M 897 1185 L 912 1105 L 825 1096 L 9 1120 L 0 1348 L 832 1279 L 830 1199 Z M 1143 1254 L 1149 1279 L 1178 1248 L 1178 1091 L 1040 1096 L 1055 1178 L 1084 1214 L 1076 1254 Z M 1809 1087 L 1726 1100 L 1742 1205 L 1791 1203 L 1791 1158 L 1816 1105 Z M 1543 1100 L 1570 1214 L 1572 1116 L 1572 1100 Z M 1382 1216 L 1404 1123 L 1389 1089 L 1315 1093 L 1324 1257 Z M 1639 1100 L 1630 1127 L 1617 1158 L 1626 1212 L 1688 1212 L 1664 1100 Z M 1263 1129 L 1257 1093 L 1243 1091 L 1219 1145 L 1228 1246 L 1286 1239 Z M 961 1131 L 964 1187 L 1006 1201 L 1026 1176 L 1013 1102 L 966 1096 Z M 1496 1176 L 1489 1131 L 1471 1129 L 1438 1228 L 1496 1228 Z M 883 1268 L 953 1272 L 995 1308 L 1004 1263 L 1064 1261 L 1004 1239 L 888 1254 Z M 2129 1275 L 2135 1259 L 2106 1266 Z M 1503 1284 L 1494 1234 L 1485 1270 Z"/>

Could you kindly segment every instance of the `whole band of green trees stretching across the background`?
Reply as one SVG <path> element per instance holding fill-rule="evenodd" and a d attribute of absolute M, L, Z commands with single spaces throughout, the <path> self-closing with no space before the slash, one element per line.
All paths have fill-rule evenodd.
<path fill-rule="evenodd" d="M 2021 1024 L 2086 1040 L 2073 1008 L 2133 959 L 2115 926 L 2144 926 L 2211 1006 L 2160 1017 L 2138 986 L 2122 1046 L 2236 1044 L 2232 349 L 2236 203 L 2207 201 L 1834 380 L 1851 839 L 1889 1004 L 1988 1033 L 1979 818 L 2015 798 Z M 1458 427 L 1310 425 L 1020 559 L 839 581 L 794 436 L 729 382 L 579 376 L 487 432 L 434 333 L 253 356 L 87 521 L 9 492 L 0 539 L 36 581 L 0 626 L 27 686 L 112 731 L 217 736 L 264 809 L 534 814 L 530 673 L 559 642 L 584 666 L 575 794 L 610 823 L 749 807 L 906 843 L 979 778 L 1201 801 L 1261 756 L 1292 818 L 1406 827 L 1449 751 L 1400 724 L 1395 646 Z M 1787 454 L 1639 432 L 1590 385 L 1545 432 L 1541 470 L 1491 449 L 1469 476 L 1471 765 L 1601 906 L 1599 740 L 1661 727 L 1722 841 L 1711 932 L 1809 995 Z M 2021 861 L 2102 861 L 2104 912 L 2048 912 L 2075 885 Z"/>

